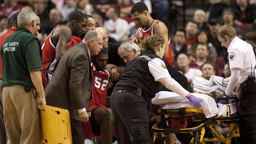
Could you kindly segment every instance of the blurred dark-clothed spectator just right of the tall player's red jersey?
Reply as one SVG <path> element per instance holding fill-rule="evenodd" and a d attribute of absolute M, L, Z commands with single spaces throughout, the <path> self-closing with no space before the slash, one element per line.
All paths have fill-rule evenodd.
<path fill-rule="evenodd" d="M 171 43 L 171 49 L 173 58 L 177 60 L 180 53 L 187 52 L 187 46 L 185 45 L 186 35 L 184 30 L 177 30 L 174 35 L 174 42 Z"/>

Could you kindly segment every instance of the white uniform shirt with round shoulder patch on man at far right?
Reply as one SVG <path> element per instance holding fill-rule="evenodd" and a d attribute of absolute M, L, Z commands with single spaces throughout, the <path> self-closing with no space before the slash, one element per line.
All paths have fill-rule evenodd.
<path fill-rule="evenodd" d="M 247 80 L 247 77 L 254 73 L 254 67 L 256 65 L 254 51 L 251 44 L 243 41 L 242 39 L 235 37 L 228 47 L 228 58 L 230 70 L 233 68 L 240 69 L 240 75 L 238 84 Z"/>

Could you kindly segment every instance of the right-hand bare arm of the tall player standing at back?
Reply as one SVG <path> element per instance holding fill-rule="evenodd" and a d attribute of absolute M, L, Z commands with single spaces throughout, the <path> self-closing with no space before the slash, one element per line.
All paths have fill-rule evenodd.
<path fill-rule="evenodd" d="M 168 29 L 163 22 L 158 22 L 154 27 L 154 34 L 159 34 L 160 36 L 165 38 L 165 53 L 163 58 L 167 58 L 169 53 L 169 35 Z"/>

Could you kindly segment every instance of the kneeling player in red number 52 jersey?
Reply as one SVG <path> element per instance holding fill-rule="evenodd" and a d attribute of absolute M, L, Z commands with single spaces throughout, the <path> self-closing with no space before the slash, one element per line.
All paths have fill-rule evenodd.
<path fill-rule="evenodd" d="M 113 118 L 110 108 L 106 108 L 107 88 L 110 73 L 106 70 L 108 52 L 105 48 L 91 57 L 92 68 L 92 100 L 87 111 L 91 112 L 89 122 L 82 123 L 84 139 L 96 139 L 96 144 L 111 144 L 113 135 Z M 118 77 L 117 77 L 118 78 Z M 112 78 L 112 79 L 117 79 Z M 100 136 L 101 135 L 101 136 Z"/>

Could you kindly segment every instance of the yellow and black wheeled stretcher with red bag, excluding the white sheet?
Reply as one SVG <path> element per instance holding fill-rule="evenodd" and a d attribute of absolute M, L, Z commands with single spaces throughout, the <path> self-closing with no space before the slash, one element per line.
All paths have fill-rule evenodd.
<path fill-rule="evenodd" d="M 214 116 L 209 117 L 209 115 L 206 116 L 203 110 L 180 107 L 176 109 L 169 109 L 165 105 L 160 105 L 161 109 L 158 110 L 158 112 L 161 114 L 161 121 L 154 124 L 154 126 L 151 128 L 151 130 L 154 132 L 152 143 L 164 144 L 164 139 L 168 133 L 190 133 L 193 136 L 192 139 L 190 139 L 191 144 L 206 144 L 206 142 L 217 141 L 231 144 L 231 139 L 233 137 L 240 137 L 239 116 L 238 112 L 231 112 L 228 100 L 233 99 L 233 104 L 238 105 L 239 98 L 215 98 L 215 102 L 212 104 L 218 107 L 219 105 L 222 105 L 218 103 L 219 100 L 223 99 L 227 101 L 227 104 L 224 105 L 226 106 L 226 114 L 222 114 L 224 116 L 215 114 Z M 175 103 L 169 103 L 169 105 L 174 104 Z M 220 133 L 220 130 L 214 127 L 215 125 L 228 126 L 230 128 L 229 134 Z M 216 135 L 216 137 L 204 138 L 204 135 L 206 134 L 206 128 L 209 128 Z"/>

